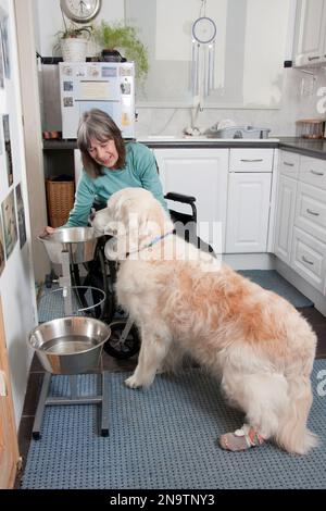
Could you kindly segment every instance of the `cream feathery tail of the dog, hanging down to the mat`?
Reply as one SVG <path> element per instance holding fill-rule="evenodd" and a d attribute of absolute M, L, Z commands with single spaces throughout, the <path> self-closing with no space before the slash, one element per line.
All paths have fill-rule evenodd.
<path fill-rule="evenodd" d="M 288 452 L 305 454 L 318 443 L 317 436 L 306 427 L 308 415 L 312 406 L 313 396 L 311 389 L 310 373 L 312 361 L 306 361 L 301 366 L 301 373 L 287 375 L 288 382 L 288 408 L 280 419 L 276 434 L 277 444 Z"/>

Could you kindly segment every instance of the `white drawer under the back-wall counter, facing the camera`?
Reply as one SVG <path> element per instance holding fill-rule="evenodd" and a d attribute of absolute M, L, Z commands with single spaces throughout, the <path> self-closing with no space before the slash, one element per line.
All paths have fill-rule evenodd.
<path fill-rule="evenodd" d="M 230 149 L 230 172 L 272 172 L 274 149 Z"/>

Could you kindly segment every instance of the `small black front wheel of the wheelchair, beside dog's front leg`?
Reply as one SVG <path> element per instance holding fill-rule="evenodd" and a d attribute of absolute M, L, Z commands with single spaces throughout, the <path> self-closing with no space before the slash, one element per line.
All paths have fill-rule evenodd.
<path fill-rule="evenodd" d="M 110 324 L 111 336 L 104 344 L 104 350 L 114 359 L 129 359 L 139 351 L 140 338 L 136 326 L 133 325 L 126 339 L 122 340 L 125 326 L 124 320 L 117 320 Z"/>

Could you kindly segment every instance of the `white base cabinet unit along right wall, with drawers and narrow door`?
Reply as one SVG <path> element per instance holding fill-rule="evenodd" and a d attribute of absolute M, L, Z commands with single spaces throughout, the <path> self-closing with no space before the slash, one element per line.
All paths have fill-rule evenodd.
<path fill-rule="evenodd" d="M 281 151 L 274 252 L 325 295 L 326 162 Z"/>

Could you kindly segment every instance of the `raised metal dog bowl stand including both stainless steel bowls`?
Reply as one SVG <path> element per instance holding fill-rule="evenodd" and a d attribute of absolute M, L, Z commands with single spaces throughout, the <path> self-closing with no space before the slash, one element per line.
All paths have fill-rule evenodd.
<path fill-rule="evenodd" d="M 47 406 L 63 404 L 101 404 L 101 435 L 109 435 L 109 382 L 108 372 L 101 370 L 101 392 L 95 396 L 78 396 L 77 375 L 97 369 L 102 353 L 103 344 L 110 337 L 110 327 L 87 314 L 99 307 L 105 295 L 98 303 L 88 308 L 73 307 L 74 289 L 71 286 L 70 265 L 92 260 L 96 238 L 90 227 L 73 227 L 58 229 L 54 235 L 39 238 L 47 249 L 53 263 L 61 263 L 64 302 L 64 317 L 57 317 L 38 325 L 29 335 L 29 344 L 46 370 L 40 397 L 33 425 L 33 438 L 40 439 L 40 431 Z M 79 286 L 82 288 L 83 286 Z M 58 292 L 57 289 L 53 292 Z M 67 374 L 70 395 L 63 397 L 49 396 L 52 375 Z"/>

